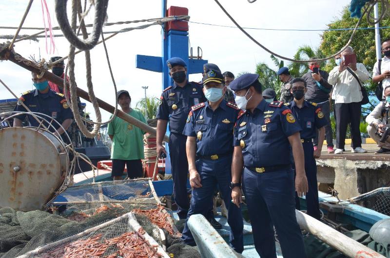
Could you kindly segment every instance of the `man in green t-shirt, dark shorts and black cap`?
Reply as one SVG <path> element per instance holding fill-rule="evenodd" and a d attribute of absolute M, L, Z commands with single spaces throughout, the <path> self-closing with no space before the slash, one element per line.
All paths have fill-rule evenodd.
<path fill-rule="evenodd" d="M 123 112 L 146 123 L 145 117 L 141 112 L 130 107 L 131 98 L 128 91 L 118 91 L 118 104 Z M 138 127 L 116 117 L 108 124 L 108 136 L 113 141 L 111 147 L 111 159 L 113 160 L 113 169 L 111 172 L 114 180 L 121 180 L 125 164 L 127 175 L 130 179 L 143 177 L 141 159 L 144 159 L 143 153 L 143 135 L 144 131 Z"/>

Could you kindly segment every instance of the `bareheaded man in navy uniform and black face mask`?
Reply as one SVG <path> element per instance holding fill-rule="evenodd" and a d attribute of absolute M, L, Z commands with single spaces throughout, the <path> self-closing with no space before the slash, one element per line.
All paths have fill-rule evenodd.
<path fill-rule="evenodd" d="M 325 127 L 327 120 L 317 104 L 305 100 L 307 92 L 306 80 L 302 78 L 294 78 L 291 81 L 291 93 L 294 100 L 285 105 L 291 109 L 292 115 L 297 119 L 297 122 L 302 128 L 300 132 L 303 151 L 305 153 L 305 172 L 309 184 L 309 192 L 306 195 L 306 203 L 308 207 L 308 215 L 313 218 L 320 219 L 320 207 L 318 204 L 318 188 L 317 188 L 317 164 L 316 158 L 321 156 L 322 144 L 325 138 Z M 312 139 L 315 137 L 316 129 L 318 129 L 318 147 L 313 150 Z M 299 198 L 296 196 L 295 207 L 300 210 Z"/>

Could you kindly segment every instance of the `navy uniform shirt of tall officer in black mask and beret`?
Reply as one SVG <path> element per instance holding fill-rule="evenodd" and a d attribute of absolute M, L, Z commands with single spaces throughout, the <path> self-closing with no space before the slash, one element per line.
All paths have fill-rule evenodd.
<path fill-rule="evenodd" d="M 183 88 L 174 83 L 160 97 L 156 119 L 168 120 L 171 133 L 182 134 L 191 107 L 206 101 L 202 85 L 188 82 Z"/>

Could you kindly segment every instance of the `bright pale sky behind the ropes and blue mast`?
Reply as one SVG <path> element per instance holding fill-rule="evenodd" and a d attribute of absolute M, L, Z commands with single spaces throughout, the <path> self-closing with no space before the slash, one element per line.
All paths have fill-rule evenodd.
<path fill-rule="evenodd" d="M 53 26 L 57 26 L 54 13 L 54 0 L 46 0 Z M 27 0 L 0 0 L 1 26 L 18 26 L 27 5 Z M 70 8 L 70 2 L 69 8 Z M 342 8 L 351 0 L 220 0 L 220 3 L 243 27 L 291 28 L 291 29 L 325 29 L 326 24 L 340 17 Z M 220 25 L 234 25 L 213 0 L 168 0 L 168 7 L 182 6 L 189 9 L 191 21 Z M 70 10 L 68 11 L 70 14 Z M 93 23 L 93 10 L 86 18 Z M 161 0 L 122 1 L 110 0 L 108 22 L 138 20 L 161 17 Z M 33 2 L 24 26 L 43 27 L 41 1 Z M 133 25 L 117 25 L 103 30 L 119 30 Z M 262 50 L 236 28 L 223 28 L 190 23 L 190 42 L 196 49 L 203 50 L 203 59 L 216 63 L 223 71 L 237 74 L 242 71 L 254 72 L 257 62 L 272 65 L 270 54 Z M 37 31 L 22 30 L 20 34 L 32 34 Z M 58 34 L 59 31 L 54 31 Z M 318 47 L 321 32 L 261 31 L 248 30 L 259 42 L 281 55 L 292 57 L 301 45 Z M 14 34 L 15 30 L 0 29 L 1 35 Z M 5 40 L 0 40 L 3 42 Z M 39 42 L 26 40 L 16 43 L 15 50 L 24 57 L 40 56 L 49 59 L 51 56 L 66 56 L 69 43 L 65 38 L 55 38 L 55 54 L 46 53 L 45 39 Z M 48 40 L 49 44 L 49 40 Z M 158 97 L 161 94 L 161 74 L 135 68 L 137 54 L 161 55 L 161 27 L 152 26 L 144 30 L 122 33 L 107 40 L 114 76 L 119 89 L 126 89 L 132 96 L 132 107 L 144 95 L 141 86 L 149 86 L 148 96 Z M 103 46 L 100 44 L 91 51 L 92 76 L 95 93 L 98 98 L 115 104 L 114 88 L 108 71 Z M 85 61 L 82 53 L 76 56 L 76 79 L 79 87 L 86 88 Z M 17 95 L 32 89 L 31 74 L 9 62 L 0 62 L 0 79 L 11 87 Z M 199 81 L 201 75 L 191 75 L 190 80 Z M 0 85 L 0 99 L 10 99 L 12 95 Z M 92 104 L 87 104 L 87 111 L 92 112 Z M 109 114 L 102 111 L 103 119 Z"/>

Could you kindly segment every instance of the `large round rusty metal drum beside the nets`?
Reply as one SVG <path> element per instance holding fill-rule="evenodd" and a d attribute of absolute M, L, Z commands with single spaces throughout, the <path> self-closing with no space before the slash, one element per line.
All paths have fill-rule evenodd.
<path fill-rule="evenodd" d="M 0 130 L 0 207 L 42 209 L 62 185 L 68 154 L 53 134 L 37 128 Z"/>

